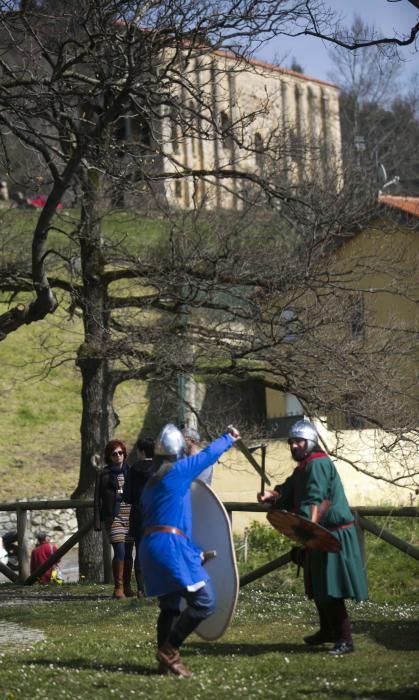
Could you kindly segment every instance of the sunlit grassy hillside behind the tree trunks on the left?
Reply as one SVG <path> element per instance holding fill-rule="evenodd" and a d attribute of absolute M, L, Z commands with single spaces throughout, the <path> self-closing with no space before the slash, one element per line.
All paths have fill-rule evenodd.
<path fill-rule="evenodd" d="M 66 214 L 60 223 L 70 227 L 71 213 Z M 33 217 L 30 211 L 2 212 L 3 240 L 9 229 L 21 240 L 25 237 L 27 245 Z M 118 212 L 105 222 L 104 230 L 121 247 L 140 251 L 160 238 L 164 227 L 162 220 Z M 57 234 L 52 239 L 57 245 Z M 30 253 L 30 247 L 25 250 L 15 241 L 12 256 L 22 253 Z M 15 297 L 13 305 L 18 301 Z M 0 501 L 69 496 L 77 485 L 81 382 L 74 358 L 82 342 L 82 325 L 77 316 L 68 316 L 67 307 L 68 300 L 62 298 L 54 315 L 20 328 L 0 343 Z M 1 312 L 7 308 L 0 303 Z M 141 429 L 145 397 L 146 387 L 138 382 L 126 382 L 117 390 L 117 436 L 128 447 Z"/>

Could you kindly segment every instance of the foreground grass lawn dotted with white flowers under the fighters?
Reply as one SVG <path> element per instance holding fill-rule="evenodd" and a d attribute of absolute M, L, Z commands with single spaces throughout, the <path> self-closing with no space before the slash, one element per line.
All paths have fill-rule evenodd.
<path fill-rule="evenodd" d="M 0 587 L 0 695 L 26 698 L 419 697 L 418 603 L 349 604 L 356 651 L 342 658 L 310 648 L 312 603 L 281 593 L 271 575 L 245 587 L 224 637 L 192 635 L 183 657 L 191 679 L 156 674 L 154 601 L 112 600 L 111 586 Z M 8 593 L 18 600 L 8 601 Z M 11 605 L 12 604 L 12 605 Z M 42 631 L 44 640 L 8 638 L 5 623 Z M 181 684 L 181 685 L 179 685 Z"/>

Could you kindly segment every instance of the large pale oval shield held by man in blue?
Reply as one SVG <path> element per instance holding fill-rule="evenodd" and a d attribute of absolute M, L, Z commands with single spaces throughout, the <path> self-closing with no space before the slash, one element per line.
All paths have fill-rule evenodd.
<path fill-rule="evenodd" d="M 203 566 L 211 576 L 217 597 L 213 615 L 203 620 L 196 633 L 212 641 L 221 637 L 233 616 L 239 595 L 239 573 L 230 518 L 214 491 L 197 479 L 192 492 L 192 537 L 207 558 Z"/>

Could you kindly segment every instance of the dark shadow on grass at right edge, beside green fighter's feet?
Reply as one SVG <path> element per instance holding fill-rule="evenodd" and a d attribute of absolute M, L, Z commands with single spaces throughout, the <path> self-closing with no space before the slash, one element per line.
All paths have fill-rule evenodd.
<path fill-rule="evenodd" d="M 394 651 L 419 650 L 419 621 L 395 620 L 394 622 L 371 622 L 357 620 L 354 633 L 366 634 L 377 644 Z"/>

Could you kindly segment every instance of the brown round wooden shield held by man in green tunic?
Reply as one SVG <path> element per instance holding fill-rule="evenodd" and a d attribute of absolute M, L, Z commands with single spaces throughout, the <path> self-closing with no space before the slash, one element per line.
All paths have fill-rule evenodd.
<path fill-rule="evenodd" d="M 339 540 L 332 535 L 330 530 L 313 523 L 302 515 L 290 513 L 287 510 L 271 510 L 266 517 L 278 532 L 303 547 L 319 549 L 322 552 L 339 552 L 341 550 Z"/>

